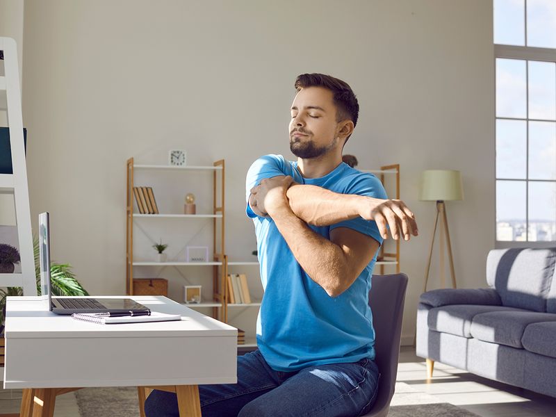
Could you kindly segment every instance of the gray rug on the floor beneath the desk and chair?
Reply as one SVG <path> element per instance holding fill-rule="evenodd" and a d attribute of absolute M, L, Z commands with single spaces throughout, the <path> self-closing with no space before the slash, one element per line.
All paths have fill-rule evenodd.
<path fill-rule="evenodd" d="M 411 389 L 403 382 L 396 384 L 396 391 L 389 417 L 477 417 L 471 411 L 438 402 L 431 395 Z M 134 387 L 85 388 L 76 391 L 75 396 L 81 417 L 139 416 L 137 389 Z M 405 400 L 407 405 L 402 405 Z"/>

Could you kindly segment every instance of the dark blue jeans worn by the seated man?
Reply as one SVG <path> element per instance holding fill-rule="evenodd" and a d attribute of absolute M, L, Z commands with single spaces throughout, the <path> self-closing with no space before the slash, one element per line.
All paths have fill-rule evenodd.
<path fill-rule="evenodd" d="M 378 379 L 370 359 L 278 372 L 256 350 L 238 357 L 237 384 L 199 385 L 199 396 L 203 417 L 355 417 L 373 406 Z M 152 391 L 145 414 L 179 416 L 176 394 Z"/>

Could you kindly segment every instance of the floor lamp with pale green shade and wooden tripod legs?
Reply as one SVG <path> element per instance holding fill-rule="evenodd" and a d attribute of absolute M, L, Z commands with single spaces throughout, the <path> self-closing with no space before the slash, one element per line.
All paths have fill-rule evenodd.
<path fill-rule="evenodd" d="M 425 283 L 423 293 L 427 291 L 429 280 L 430 263 L 432 250 L 434 247 L 434 236 L 436 227 L 440 222 L 440 281 L 442 288 L 445 288 L 445 268 L 444 268 L 444 241 L 448 246 L 448 260 L 450 261 L 450 273 L 452 275 L 452 286 L 456 288 L 456 275 L 454 270 L 454 259 L 452 256 L 452 244 L 450 243 L 450 231 L 448 230 L 448 218 L 446 218 L 446 207 L 444 202 L 450 200 L 464 199 L 464 189 L 461 183 L 461 174 L 453 170 L 426 170 L 423 172 L 420 183 L 419 199 L 421 201 L 436 201 L 436 221 L 432 231 L 430 243 L 429 260 L 425 271 Z"/>

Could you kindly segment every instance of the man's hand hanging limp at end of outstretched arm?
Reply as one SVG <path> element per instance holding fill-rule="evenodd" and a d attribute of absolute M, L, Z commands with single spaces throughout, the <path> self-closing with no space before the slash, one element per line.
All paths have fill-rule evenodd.
<path fill-rule="evenodd" d="M 400 233 L 404 240 L 419 234 L 415 215 L 402 200 L 363 197 L 359 202 L 359 215 L 363 219 L 375 220 L 380 236 L 384 239 L 388 238 L 386 225 L 396 240 L 400 238 Z"/>

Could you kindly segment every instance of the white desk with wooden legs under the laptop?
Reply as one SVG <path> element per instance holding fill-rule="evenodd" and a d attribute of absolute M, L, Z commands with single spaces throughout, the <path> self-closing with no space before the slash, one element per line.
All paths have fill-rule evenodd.
<path fill-rule="evenodd" d="M 8 297 L 4 388 L 35 389 L 36 406 L 38 394 L 48 400 L 73 387 L 173 386 L 183 394 L 190 386 L 198 403 L 197 384 L 237 381 L 237 329 L 166 297 L 132 298 L 181 321 L 97 325 L 40 311 L 34 297 Z M 51 415 L 39 411 L 33 416 Z M 192 415 L 201 415 L 198 404 Z"/>

